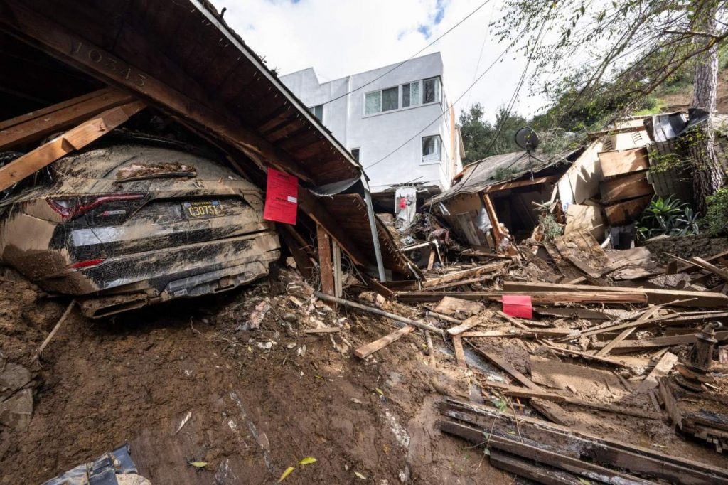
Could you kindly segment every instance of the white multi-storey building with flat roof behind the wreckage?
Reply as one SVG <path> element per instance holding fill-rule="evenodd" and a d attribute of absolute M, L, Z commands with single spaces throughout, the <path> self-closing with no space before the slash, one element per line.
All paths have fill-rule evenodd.
<path fill-rule="evenodd" d="M 395 66 L 327 82 L 313 68 L 280 76 L 360 160 L 381 202 L 385 194 L 393 200 L 393 187 L 406 183 L 429 197 L 448 189 L 462 170 L 462 138 L 448 106 L 440 52 Z"/>

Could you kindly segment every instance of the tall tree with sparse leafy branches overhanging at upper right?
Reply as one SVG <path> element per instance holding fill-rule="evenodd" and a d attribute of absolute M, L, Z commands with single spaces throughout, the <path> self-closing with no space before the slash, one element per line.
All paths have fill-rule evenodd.
<path fill-rule="evenodd" d="M 628 113 L 687 67 L 695 70 L 693 105 L 712 114 L 727 17 L 722 0 L 505 0 L 492 26 L 501 41 L 526 37 L 523 50 L 535 62 L 532 84 L 558 101 L 550 121 L 561 125 L 579 106 L 586 114 L 604 107 Z M 692 162 L 702 208 L 724 181 L 711 121 L 700 143 Z"/>

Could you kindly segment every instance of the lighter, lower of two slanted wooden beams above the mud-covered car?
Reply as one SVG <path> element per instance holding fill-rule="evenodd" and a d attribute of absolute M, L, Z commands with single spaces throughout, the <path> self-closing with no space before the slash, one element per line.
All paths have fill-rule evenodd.
<path fill-rule="evenodd" d="M 97 117 L 68 130 L 63 135 L 39 146 L 33 151 L 19 157 L 7 165 L 0 167 L 0 190 L 17 184 L 23 178 L 36 173 L 71 151 L 87 146 L 92 141 L 106 135 L 127 119 L 144 109 L 141 101 L 133 101 L 116 108 L 103 111 Z"/>

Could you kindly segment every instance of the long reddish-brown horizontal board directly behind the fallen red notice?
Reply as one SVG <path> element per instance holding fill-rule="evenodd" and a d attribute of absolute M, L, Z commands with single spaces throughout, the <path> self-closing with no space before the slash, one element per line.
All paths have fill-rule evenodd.
<path fill-rule="evenodd" d="M 563 303 L 644 303 L 647 296 L 643 288 L 631 292 L 612 292 L 601 291 L 602 288 L 596 286 L 583 286 L 583 291 L 573 291 L 565 289 L 563 291 L 406 291 L 397 293 L 397 300 L 408 303 L 419 303 L 427 301 L 440 301 L 446 296 L 454 298 L 473 300 L 473 301 L 501 301 L 502 296 L 506 295 L 524 295 L 531 296 L 531 302 L 538 305 L 553 305 Z M 587 288 L 597 288 L 599 291 L 587 290 Z M 688 292 L 689 293 L 689 292 Z M 719 293 L 712 293 L 717 296 L 724 296 Z M 724 296 L 728 301 L 728 296 Z"/>

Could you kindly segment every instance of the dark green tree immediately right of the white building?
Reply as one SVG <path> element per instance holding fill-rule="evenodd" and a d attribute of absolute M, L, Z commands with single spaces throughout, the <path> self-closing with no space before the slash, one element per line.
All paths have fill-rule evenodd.
<path fill-rule="evenodd" d="M 518 128 L 527 125 L 526 119 L 518 115 L 507 116 L 505 106 L 500 106 L 496 112 L 495 125 L 483 119 L 484 114 L 480 103 L 460 112 L 458 125 L 465 148 L 465 165 L 492 155 L 521 150 L 515 144 L 514 136 Z M 501 125 L 503 127 L 498 134 L 498 127 Z"/>

